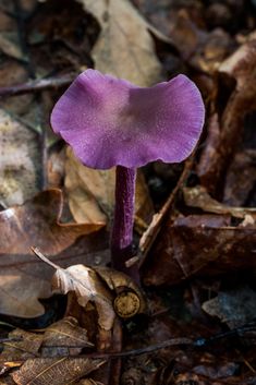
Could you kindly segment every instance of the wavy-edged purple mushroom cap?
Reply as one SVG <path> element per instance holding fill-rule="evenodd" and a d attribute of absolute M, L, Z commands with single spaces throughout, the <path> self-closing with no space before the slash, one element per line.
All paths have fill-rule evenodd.
<path fill-rule="evenodd" d="M 136 168 L 184 160 L 204 118 L 200 93 L 185 75 L 146 88 L 89 69 L 56 104 L 51 125 L 84 165 Z"/>

